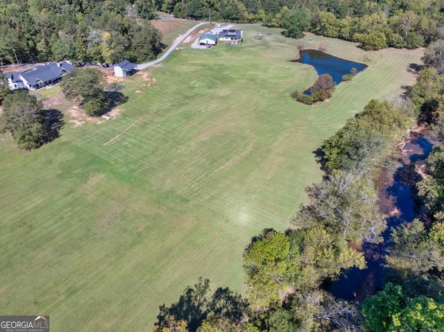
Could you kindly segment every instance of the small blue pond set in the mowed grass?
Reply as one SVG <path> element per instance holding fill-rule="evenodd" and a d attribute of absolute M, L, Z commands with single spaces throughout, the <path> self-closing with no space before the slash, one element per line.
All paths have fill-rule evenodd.
<path fill-rule="evenodd" d="M 316 50 L 299 51 L 299 56 L 298 62 L 311 64 L 318 75 L 322 75 L 323 73 L 331 75 L 336 84 L 339 84 L 342 76 L 350 73 L 352 68 L 356 68 L 357 73 L 367 68 L 366 64 L 336 58 L 333 55 Z M 304 93 L 306 94 L 307 92 L 309 93 L 309 91 L 305 91 Z"/>

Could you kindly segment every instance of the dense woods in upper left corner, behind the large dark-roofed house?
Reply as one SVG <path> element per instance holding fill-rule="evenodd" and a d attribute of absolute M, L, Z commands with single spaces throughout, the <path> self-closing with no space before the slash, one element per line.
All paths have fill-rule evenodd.
<path fill-rule="evenodd" d="M 0 0 L 0 64 L 78 60 L 152 60 L 162 35 L 148 20 L 150 1 Z"/>

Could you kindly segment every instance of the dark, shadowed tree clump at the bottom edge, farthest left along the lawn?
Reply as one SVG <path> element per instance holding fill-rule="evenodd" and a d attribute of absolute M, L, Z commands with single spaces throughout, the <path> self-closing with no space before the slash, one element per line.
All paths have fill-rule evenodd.
<path fill-rule="evenodd" d="M 185 320 L 189 332 L 195 332 L 207 318 L 225 318 L 238 324 L 246 315 L 248 302 L 237 292 L 229 288 L 217 288 L 214 293 L 210 290 L 210 280 L 199 278 L 194 286 L 185 288 L 179 301 L 167 307 L 159 306 L 156 327 L 167 327 L 169 317 L 176 321 Z"/>

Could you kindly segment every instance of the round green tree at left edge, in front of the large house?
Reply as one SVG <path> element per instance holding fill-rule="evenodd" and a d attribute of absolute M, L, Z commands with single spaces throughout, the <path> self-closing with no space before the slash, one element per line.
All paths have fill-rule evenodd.
<path fill-rule="evenodd" d="M 0 132 L 10 132 L 19 148 L 39 148 L 46 141 L 48 128 L 44 122 L 42 102 L 27 91 L 14 91 L 3 99 Z"/>

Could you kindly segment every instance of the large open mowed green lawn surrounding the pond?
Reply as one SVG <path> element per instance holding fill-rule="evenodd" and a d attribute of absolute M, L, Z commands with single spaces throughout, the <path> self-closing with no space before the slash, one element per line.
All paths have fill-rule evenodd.
<path fill-rule="evenodd" d="M 309 107 L 290 98 L 316 77 L 289 61 L 297 42 L 243 28 L 241 46 L 185 46 L 123 82 L 112 121 L 66 115 L 61 137 L 31 152 L 0 137 L 0 315 L 51 315 L 54 332 L 149 331 L 198 277 L 244 292 L 244 247 L 290 226 L 322 176 L 313 151 L 370 99 L 413 84 L 422 55 L 328 40 L 369 67 Z"/>

